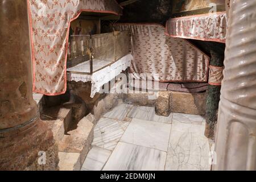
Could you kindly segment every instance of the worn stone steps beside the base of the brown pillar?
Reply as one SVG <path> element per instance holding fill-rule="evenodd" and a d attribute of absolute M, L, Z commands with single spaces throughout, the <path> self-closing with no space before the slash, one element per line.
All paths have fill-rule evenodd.
<path fill-rule="evenodd" d="M 41 118 L 51 128 L 59 148 L 60 170 L 80 170 L 93 140 L 95 119 L 84 102 L 49 107 Z"/>

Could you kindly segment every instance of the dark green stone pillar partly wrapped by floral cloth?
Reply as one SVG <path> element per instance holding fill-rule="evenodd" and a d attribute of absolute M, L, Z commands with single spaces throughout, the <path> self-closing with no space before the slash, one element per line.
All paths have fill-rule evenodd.
<path fill-rule="evenodd" d="M 210 50 L 210 66 L 224 66 L 224 51 L 216 52 Z M 214 130 L 217 124 L 218 102 L 220 102 L 221 85 L 209 83 L 207 88 L 207 109 L 206 109 L 206 125 L 205 136 L 214 139 Z"/>

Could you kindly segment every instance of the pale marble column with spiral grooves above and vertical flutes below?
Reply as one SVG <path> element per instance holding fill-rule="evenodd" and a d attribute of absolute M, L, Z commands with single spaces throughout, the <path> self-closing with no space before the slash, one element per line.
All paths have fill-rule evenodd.
<path fill-rule="evenodd" d="M 256 170 L 256 1 L 230 1 L 214 170 Z"/>

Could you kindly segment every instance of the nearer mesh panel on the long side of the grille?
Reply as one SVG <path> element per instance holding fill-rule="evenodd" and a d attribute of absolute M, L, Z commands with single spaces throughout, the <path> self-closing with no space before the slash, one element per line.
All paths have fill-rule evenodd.
<path fill-rule="evenodd" d="M 115 37 L 113 33 L 92 35 L 93 60 L 114 61 Z"/>

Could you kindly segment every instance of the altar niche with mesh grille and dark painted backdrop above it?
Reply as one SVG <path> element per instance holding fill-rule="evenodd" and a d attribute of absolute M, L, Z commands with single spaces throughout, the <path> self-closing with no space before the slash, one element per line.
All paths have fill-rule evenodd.
<path fill-rule="evenodd" d="M 101 34 L 100 18 L 82 18 L 74 20 L 69 30 L 68 72 L 92 75 L 129 54 L 128 31 Z"/>

